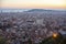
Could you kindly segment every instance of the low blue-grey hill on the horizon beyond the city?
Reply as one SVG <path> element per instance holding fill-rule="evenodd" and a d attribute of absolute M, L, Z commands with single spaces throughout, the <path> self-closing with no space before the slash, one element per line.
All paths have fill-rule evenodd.
<path fill-rule="evenodd" d="M 66 12 L 63 10 L 47 10 L 47 9 L 31 9 L 24 12 Z"/>

